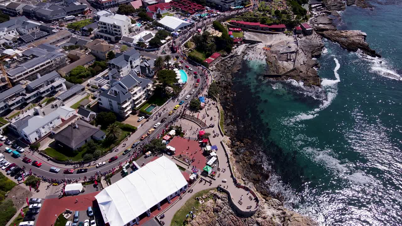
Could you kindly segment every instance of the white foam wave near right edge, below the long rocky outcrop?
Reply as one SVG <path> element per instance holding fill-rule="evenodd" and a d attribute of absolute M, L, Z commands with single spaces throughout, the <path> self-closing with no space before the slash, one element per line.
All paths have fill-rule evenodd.
<path fill-rule="evenodd" d="M 372 63 L 371 66 L 372 72 L 375 72 L 386 78 L 400 81 L 402 80 L 402 76 L 398 74 L 396 71 L 392 70 L 391 66 L 385 59 L 365 55 L 363 51 L 361 51 L 360 49 L 357 50 L 356 54 L 359 56 L 359 58 Z"/>

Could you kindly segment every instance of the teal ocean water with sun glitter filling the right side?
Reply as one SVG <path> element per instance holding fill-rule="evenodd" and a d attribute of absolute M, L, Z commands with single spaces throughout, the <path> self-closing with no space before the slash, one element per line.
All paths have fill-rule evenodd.
<path fill-rule="evenodd" d="M 267 185 L 320 225 L 402 225 L 402 6 L 369 3 L 374 10 L 341 12 L 338 29 L 367 33 L 382 58 L 324 40 L 321 88 L 265 80 L 268 66 L 256 60 L 234 75 L 235 123 L 259 142 L 273 170 Z"/>

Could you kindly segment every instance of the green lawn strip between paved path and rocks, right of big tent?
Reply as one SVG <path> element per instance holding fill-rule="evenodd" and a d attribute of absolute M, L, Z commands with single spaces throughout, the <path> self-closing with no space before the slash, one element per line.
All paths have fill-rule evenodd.
<path fill-rule="evenodd" d="M 211 189 L 205 189 L 203 191 L 199 191 L 197 193 L 195 193 L 193 196 L 191 196 L 191 198 L 189 200 L 187 200 L 187 202 L 182 205 L 180 207 L 180 209 L 174 214 L 172 222 L 170 223 L 170 226 L 183 226 L 185 224 L 183 224 L 183 221 L 186 220 L 186 215 L 189 214 L 192 207 L 195 207 L 196 209 L 199 209 L 199 211 L 201 210 L 201 204 L 199 201 L 197 201 L 197 199 L 195 199 L 196 197 L 201 197 L 205 194 L 207 194 Z M 212 199 L 212 196 L 210 196 L 210 198 Z"/>

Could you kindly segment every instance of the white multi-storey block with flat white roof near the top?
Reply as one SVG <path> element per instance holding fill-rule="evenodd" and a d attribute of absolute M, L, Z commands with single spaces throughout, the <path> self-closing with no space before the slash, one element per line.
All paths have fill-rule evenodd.
<path fill-rule="evenodd" d="M 114 14 L 110 16 L 100 16 L 99 31 L 95 36 L 100 39 L 119 41 L 123 35 L 128 35 L 131 29 L 131 19 L 128 16 Z"/>

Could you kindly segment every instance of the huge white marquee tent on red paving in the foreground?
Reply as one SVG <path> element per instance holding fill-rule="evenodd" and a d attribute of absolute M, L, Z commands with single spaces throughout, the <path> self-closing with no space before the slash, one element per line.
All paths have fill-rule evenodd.
<path fill-rule="evenodd" d="M 170 201 L 187 189 L 187 181 L 172 160 L 161 156 L 95 196 L 106 225 L 131 226 L 143 213 Z"/>

